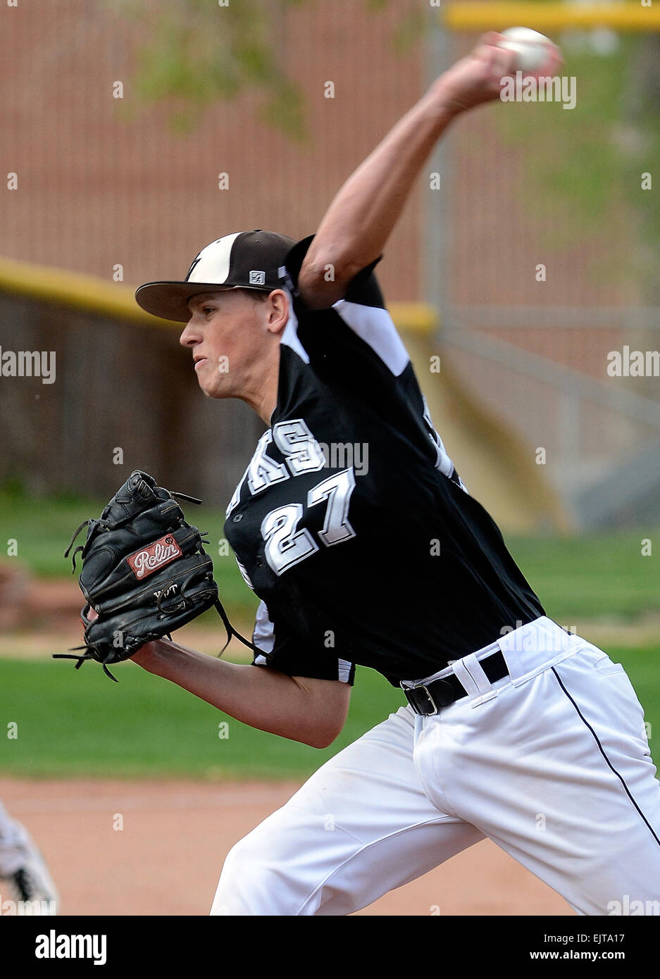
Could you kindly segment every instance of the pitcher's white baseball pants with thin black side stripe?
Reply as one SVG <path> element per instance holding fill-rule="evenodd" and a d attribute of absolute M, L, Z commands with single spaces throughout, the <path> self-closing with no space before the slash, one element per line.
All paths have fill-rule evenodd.
<path fill-rule="evenodd" d="M 579 914 L 660 912 L 660 784 L 623 667 L 543 617 L 450 669 L 468 696 L 401 707 L 316 771 L 229 852 L 212 914 L 350 914 L 485 836 Z"/>

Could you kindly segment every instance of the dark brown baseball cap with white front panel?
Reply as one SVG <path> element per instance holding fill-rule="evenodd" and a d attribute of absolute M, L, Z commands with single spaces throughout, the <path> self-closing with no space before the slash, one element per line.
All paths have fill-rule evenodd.
<path fill-rule="evenodd" d="M 155 316 L 187 323 L 187 303 L 200 293 L 220 289 L 272 292 L 282 286 L 278 269 L 296 244 L 275 231 L 237 231 L 207 245 L 195 256 L 180 282 L 146 282 L 135 293 L 138 305 Z"/>

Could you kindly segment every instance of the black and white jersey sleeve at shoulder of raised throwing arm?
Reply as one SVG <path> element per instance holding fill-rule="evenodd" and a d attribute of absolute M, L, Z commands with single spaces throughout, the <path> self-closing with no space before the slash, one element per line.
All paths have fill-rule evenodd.
<path fill-rule="evenodd" d="M 308 309 L 298 292 L 298 276 L 314 236 L 298 242 L 280 269 L 293 299 L 294 315 L 282 338 L 333 386 L 382 394 L 406 370 L 410 358 L 385 305 L 374 275 L 377 258 L 359 271 L 346 296 L 327 309 Z"/>

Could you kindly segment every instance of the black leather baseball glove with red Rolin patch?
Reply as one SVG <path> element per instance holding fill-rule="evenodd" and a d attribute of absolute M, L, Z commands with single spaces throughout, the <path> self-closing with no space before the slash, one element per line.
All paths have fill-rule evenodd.
<path fill-rule="evenodd" d="M 109 665 L 129 659 L 145 642 L 169 638 L 174 629 L 212 606 L 227 631 L 225 647 L 232 635 L 252 646 L 233 629 L 218 600 L 212 559 L 204 549 L 206 532 L 186 523 L 174 497 L 201 502 L 163 489 L 153 477 L 136 470 L 100 519 L 80 524 L 65 557 L 87 527 L 87 539 L 71 559 L 74 574 L 75 555 L 81 551 L 85 631 L 84 645 L 75 648 L 85 652 L 80 656 L 56 653 L 55 659 L 77 660 L 76 670 L 86 660 L 96 660 L 117 682 Z"/>

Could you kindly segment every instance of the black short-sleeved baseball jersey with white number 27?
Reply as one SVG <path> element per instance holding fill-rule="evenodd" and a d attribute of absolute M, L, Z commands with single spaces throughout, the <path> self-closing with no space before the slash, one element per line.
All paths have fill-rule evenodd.
<path fill-rule="evenodd" d="M 225 535 L 261 599 L 255 663 L 347 682 L 357 664 L 398 684 L 544 612 L 433 427 L 377 262 L 332 308 L 298 297 L 312 237 L 282 270 L 277 406 Z"/>

